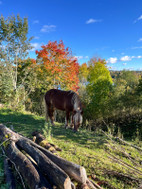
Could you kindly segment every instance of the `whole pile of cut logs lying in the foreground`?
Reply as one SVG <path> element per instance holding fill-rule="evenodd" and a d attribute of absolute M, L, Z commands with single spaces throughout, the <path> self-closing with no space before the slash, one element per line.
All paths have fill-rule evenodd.
<path fill-rule="evenodd" d="M 30 189 L 97 188 L 89 181 L 84 167 L 69 162 L 32 140 L 0 124 L 3 151 Z"/>

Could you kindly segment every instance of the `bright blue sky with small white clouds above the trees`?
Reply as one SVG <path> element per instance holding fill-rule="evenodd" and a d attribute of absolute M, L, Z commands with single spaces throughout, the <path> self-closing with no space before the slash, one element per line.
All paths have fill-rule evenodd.
<path fill-rule="evenodd" d="M 63 40 L 80 64 L 95 56 L 142 70 L 142 0 L 0 0 L 0 14 L 28 17 L 35 49 Z"/>

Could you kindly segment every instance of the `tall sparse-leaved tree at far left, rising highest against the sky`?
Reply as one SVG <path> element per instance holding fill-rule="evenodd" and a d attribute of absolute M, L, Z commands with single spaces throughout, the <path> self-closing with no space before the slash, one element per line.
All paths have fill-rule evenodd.
<path fill-rule="evenodd" d="M 11 78 L 13 88 L 13 95 L 17 101 L 18 98 L 18 64 L 19 60 L 25 59 L 28 55 L 28 50 L 32 47 L 28 39 L 28 20 L 10 16 L 4 18 L 0 17 L 0 58 L 4 69 Z"/>

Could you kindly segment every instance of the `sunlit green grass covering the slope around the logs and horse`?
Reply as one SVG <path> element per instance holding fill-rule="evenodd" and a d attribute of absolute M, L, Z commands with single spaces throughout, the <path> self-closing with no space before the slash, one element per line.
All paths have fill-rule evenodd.
<path fill-rule="evenodd" d="M 13 125 L 15 131 L 30 138 L 33 131 L 46 129 L 43 117 L 8 109 L 0 110 L 0 123 L 8 127 Z M 142 182 L 142 152 L 131 146 L 119 144 L 112 136 L 83 129 L 74 133 L 70 129 L 66 130 L 64 125 L 59 123 L 55 123 L 51 128 L 50 135 L 53 143 L 62 148 L 62 152 L 58 152 L 58 155 L 84 166 L 88 177 L 100 184 L 102 188 L 138 187 L 138 182 L 124 175 Z M 139 142 L 138 145 L 141 146 L 142 143 Z M 4 186 L 3 159 L 0 158 L 0 186 Z"/>

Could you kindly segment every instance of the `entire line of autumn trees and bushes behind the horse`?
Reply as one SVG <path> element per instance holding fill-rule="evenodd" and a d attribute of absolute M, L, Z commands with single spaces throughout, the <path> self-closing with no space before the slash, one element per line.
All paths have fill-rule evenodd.
<path fill-rule="evenodd" d="M 0 17 L 1 104 L 43 115 L 47 90 L 73 90 L 83 102 L 83 127 L 142 136 L 141 72 L 110 71 L 106 61 L 96 57 L 79 65 L 62 40 L 41 46 L 32 59 L 32 39 L 27 18 Z M 62 119 L 57 113 L 57 120 Z"/>

